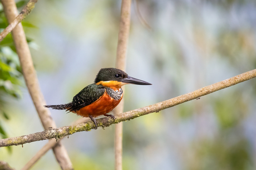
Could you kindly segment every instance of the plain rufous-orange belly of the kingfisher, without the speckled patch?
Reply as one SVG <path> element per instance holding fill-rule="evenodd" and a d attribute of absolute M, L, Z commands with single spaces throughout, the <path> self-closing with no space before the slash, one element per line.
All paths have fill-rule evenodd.
<path fill-rule="evenodd" d="M 122 96 L 120 100 L 115 100 L 105 91 L 104 95 L 100 97 L 100 99 L 96 100 L 92 104 L 83 107 L 80 110 L 77 110 L 75 113 L 77 115 L 88 117 L 91 115 L 92 117 L 97 117 L 100 115 L 107 114 L 111 110 L 113 110 L 119 102 L 122 100 Z"/>

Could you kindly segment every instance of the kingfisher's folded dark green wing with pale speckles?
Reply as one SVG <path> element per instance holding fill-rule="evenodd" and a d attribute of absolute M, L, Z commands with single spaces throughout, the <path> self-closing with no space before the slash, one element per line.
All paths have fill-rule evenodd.
<path fill-rule="evenodd" d="M 98 100 L 106 91 L 105 87 L 102 85 L 91 84 L 86 86 L 83 90 L 78 92 L 77 95 L 73 97 L 73 101 L 68 104 L 67 107 L 69 111 L 77 111 L 82 107 L 92 104 Z"/>

